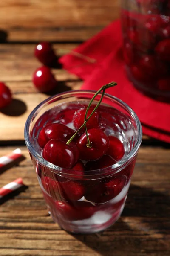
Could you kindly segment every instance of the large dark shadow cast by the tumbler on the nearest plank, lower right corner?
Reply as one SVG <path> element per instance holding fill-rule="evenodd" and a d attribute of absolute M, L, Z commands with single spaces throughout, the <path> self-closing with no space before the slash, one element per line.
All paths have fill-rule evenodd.
<path fill-rule="evenodd" d="M 103 256 L 113 256 L 114 253 L 122 255 L 122 251 L 126 252 L 125 255 L 128 255 L 128 252 L 129 255 L 139 255 L 144 249 L 143 246 L 147 246 L 146 238 L 147 241 L 150 239 L 148 250 L 151 248 L 163 252 L 168 247 L 168 241 L 165 239 L 170 230 L 168 216 L 170 216 L 168 195 L 131 185 L 122 218 L 103 232 L 73 236 Z M 130 233 L 131 236 L 128 235 Z M 156 248 L 152 247 L 152 243 L 156 244 Z M 122 247 L 123 245 L 125 247 Z"/>

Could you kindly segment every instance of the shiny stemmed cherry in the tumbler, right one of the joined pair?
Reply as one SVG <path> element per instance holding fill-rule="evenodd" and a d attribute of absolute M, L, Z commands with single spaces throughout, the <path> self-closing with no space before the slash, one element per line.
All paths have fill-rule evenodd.
<path fill-rule="evenodd" d="M 82 160 L 97 160 L 108 150 L 108 137 L 102 130 L 96 128 L 88 130 L 88 137 L 91 142 L 91 148 L 86 146 L 87 137 L 85 133 L 82 134 L 79 143 L 77 143 L 80 151 L 80 158 Z"/>

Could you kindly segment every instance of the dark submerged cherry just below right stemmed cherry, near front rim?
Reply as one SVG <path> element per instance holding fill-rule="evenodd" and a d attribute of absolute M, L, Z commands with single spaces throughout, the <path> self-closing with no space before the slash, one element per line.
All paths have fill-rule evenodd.
<path fill-rule="evenodd" d="M 88 163 L 86 163 L 85 169 L 87 171 L 99 170 L 112 166 L 115 163 L 116 160 L 114 160 L 112 157 L 104 155 L 96 161 L 89 161 Z"/>

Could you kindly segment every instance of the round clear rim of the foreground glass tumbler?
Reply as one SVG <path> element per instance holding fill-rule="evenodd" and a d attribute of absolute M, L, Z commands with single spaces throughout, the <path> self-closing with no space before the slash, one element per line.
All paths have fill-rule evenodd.
<path fill-rule="evenodd" d="M 24 128 L 24 138 L 25 138 L 25 142 L 26 142 L 26 146 L 28 148 L 28 151 L 30 151 L 30 153 L 34 156 L 34 158 L 36 160 L 38 160 L 40 162 L 40 164 L 42 164 L 42 166 L 47 167 L 47 168 L 51 169 L 51 171 L 53 171 L 54 173 L 60 174 L 60 175 L 62 175 L 62 174 L 71 175 L 71 173 L 69 173 L 70 169 L 65 169 L 65 168 L 61 168 L 59 166 L 56 166 L 56 165 L 48 162 L 40 154 L 38 154 L 36 152 L 34 146 L 31 144 L 30 136 L 29 136 L 29 128 L 30 128 L 32 117 L 34 116 L 34 114 L 38 111 L 38 109 L 42 105 L 44 105 L 46 102 L 50 101 L 51 99 L 54 99 L 56 97 L 61 97 L 61 96 L 65 95 L 65 94 L 69 94 L 69 93 L 96 93 L 96 91 L 94 91 L 94 90 L 71 90 L 71 91 L 66 91 L 66 92 L 63 92 L 63 93 L 58 93 L 58 94 L 56 94 L 54 96 L 48 97 L 44 101 L 40 102 L 40 104 L 37 105 L 37 107 L 35 107 L 33 109 L 33 111 L 31 111 L 31 113 L 29 114 L 29 116 L 28 116 L 28 118 L 26 120 L 26 125 L 25 125 L 25 128 Z M 127 163 L 133 158 L 133 156 L 136 155 L 136 153 L 138 152 L 139 147 L 141 145 L 141 142 L 142 142 L 142 125 L 141 125 L 141 122 L 139 121 L 138 116 L 133 111 L 133 109 L 130 108 L 121 99 L 119 99 L 119 98 L 117 98 L 115 96 L 112 96 L 112 95 L 110 95 L 108 93 L 105 93 L 105 96 L 108 96 L 110 99 L 114 100 L 114 102 L 116 102 L 116 103 L 120 103 L 125 108 L 125 110 L 130 112 L 130 116 L 133 117 L 134 121 L 136 122 L 136 130 L 138 131 L 138 137 L 137 137 L 137 140 L 136 140 L 136 143 L 135 143 L 133 149 L 127 154 L 126 157 L 123 157 L 121 160 L 119 160 L 117 163 L 113 164 L 112 166 L 108 166 L 108 167 L 103 168 L 103 169 L 86 171 L 85 176 L 89 175 L 88 172 L 91 172 L 90 176 L 91 175 L 97 175 L 97 174 L 99 175 L 101 170 L 105 170 L 105 174 L 107 174 L 108 172 L 112 172 L 112 174 L 120 172 L 123 169 L 123 167 L 126 166 Z M 63 172 L 63 170 L 65 170 L 66 172 Z M 108 172 L 107 172 L 107 170 L 108 170 Z M 96 171 L 98 171 L 97 174 L 96 174 Z M 93 172 L 95 172 L 95 173 L 92 174 Z M 79 174 L 78 175 L 73 175 L 73 176 L 79 176 Z"/>

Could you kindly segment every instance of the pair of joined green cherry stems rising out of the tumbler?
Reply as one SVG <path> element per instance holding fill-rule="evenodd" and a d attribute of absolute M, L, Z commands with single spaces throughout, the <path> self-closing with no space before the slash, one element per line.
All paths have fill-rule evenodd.
<path fill-rule="evenodd" d="M 109 84 L 103 85 L 103 86 L 94 94 L 93 98 L 91 99 L 91 101 L 90 101 L 90 103 L 89 103 L 89 105 L 88 105 L 88 107 L 87 107 L 86 113 L 85 113 L 85 122 L 84 122 L 84 123 L 82 124 L 82 126 L 75 132 L 75 134 L 70 138 L 70 140 L 68 140 L 68 142 L 66 142 L 67 145 L 69 145 L 69 144 L 71 143 L 71 141 L 74 139 L 74 137 L 76 137 L 76 135 L 78 134 L 78 132 L 83 128 L 83 126 L 85 126 L 86 131 L 87 131 L 86 123 L 88 122 L 88 120 L 91 118 L 91 116 L 94 114 L 94 112 L 95 112 L 96 109 L 99 107 L 100 103 L 102 102 L 103 96 L 104 96 L 104 94 L 105 94 L 105 90 L 108 89 L 108 88 L 110 88 L 110 87 L 116 86 L 116 85 L 117 85 L 116 82 L 111 82 L 111 83 L 109 83 Z M 91 114 L 90 114 L 90 115 L 88 116 L 88 118 L 86 119 L 88 110 L 89 110 L 89 108 L 90 108 L 92 102 L 94 101 L 94 98 L 96 98 L 96 96 L 97 96 L 102 90 L 103 90 L 103 92 L 102 92 L 101 99 L 99 100 L 99 102 L 98 102 L 98 104 L 96 105 L 96 107 L 94 108 L 94 110 L 91 112 Z M 90 140 L 89 140 L 89 138 L 88 138 L 88 132 L 86 133 L 86 135 L 87 135 L 87 140 L 89 141 L 89 144 L 87 144 L 87 146 L 88 146 L 88 145 L 90 145 Z M 89 147 L 91 147 L 91 145 L 90 145 Z"/>

